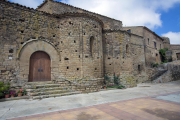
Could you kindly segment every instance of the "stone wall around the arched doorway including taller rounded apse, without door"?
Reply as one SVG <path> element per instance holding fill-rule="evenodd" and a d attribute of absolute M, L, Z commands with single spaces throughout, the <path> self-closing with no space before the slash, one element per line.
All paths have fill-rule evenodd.
<path fill-rule="evenodd" d="M 29 58 L 38 50 L 49 52 L 52 80 L 103 77 L 99 21 L 80 14 L 57 17 L 4 0 L 0 13 L 0 81 L 24 85 L 29 78 Z"/>

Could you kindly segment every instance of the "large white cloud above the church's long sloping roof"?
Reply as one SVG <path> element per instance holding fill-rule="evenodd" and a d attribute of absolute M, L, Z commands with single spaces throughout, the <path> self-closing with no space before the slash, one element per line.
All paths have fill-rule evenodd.
<path fill-rule="evenodd" d="M 66 3 L 121 20 L 124 26 L 162 26 L 161 14 L 180 0 L 66 0 Z"/>

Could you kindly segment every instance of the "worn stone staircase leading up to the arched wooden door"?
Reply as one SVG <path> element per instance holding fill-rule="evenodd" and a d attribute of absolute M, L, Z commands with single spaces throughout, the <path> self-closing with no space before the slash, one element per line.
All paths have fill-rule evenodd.
<path fill-rule="evenodd" d="M 60 84 L 49 82 L 31 82 L 25 86 L 30 99 L 43 99 L 49 97 L 60 97 L 66 95 L 80 94 L 79 91 L 73 91 Z"/>

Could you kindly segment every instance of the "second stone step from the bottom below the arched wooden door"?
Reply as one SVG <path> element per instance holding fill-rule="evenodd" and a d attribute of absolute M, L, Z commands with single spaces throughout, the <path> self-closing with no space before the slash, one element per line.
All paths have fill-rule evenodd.
<path fill-rule="evenodd" d="M 61 94 L 61 93 L 67 93 L 72 92 L 70 90 L 51 90 L 51 91 L 44 91 L 44 92 L 35 92 L 35 93 L 29 93 L 30 96 L 39 96 L 39 95 L 52 95 L 52 94 Z"/>

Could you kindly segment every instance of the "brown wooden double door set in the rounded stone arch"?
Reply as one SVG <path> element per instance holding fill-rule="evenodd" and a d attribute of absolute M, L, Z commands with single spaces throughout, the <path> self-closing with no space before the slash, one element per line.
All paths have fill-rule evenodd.
<path fill-rule="evenodd" d="M 51 80 L 51 60 L 47 53 L 37 51 L 30 57 L 29 82 Z"/>

